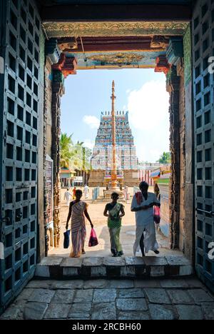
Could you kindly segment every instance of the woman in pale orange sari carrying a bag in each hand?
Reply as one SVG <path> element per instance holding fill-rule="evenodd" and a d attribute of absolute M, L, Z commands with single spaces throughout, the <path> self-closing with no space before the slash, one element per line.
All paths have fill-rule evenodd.
<path fill-rule="evenodd" d="M 68 218 L 66 223 L 66 230 L 68 230 L 68 223 L 71 218 L 71 241 L 72 249 L 70 258 L 79 258 L 81 254 L 86 254 L 84 245 L 86 241 L 86 223 L 85 216 L 93 228 L 93 223 L 88 215 L 88 204 L 81 201 L 83 192 L 81 190 L 76 191 L 76 200 L 72 201 L 69 206 Z"/>

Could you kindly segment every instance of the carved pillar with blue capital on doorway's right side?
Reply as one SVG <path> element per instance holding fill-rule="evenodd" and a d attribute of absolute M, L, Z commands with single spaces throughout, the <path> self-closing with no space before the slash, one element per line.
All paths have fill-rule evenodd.
<path fill-rule="evenodd" d="M 170 93 L 170 153 L 171 153 L 171 178 L 169 190 L 169 217 L 170 217 L 170 248 L 180 248 L 180 193 L 181 183 L 180 168 L 183 163 L 183 150 L 180 150 L 180 83 L 183 76 L 183 39 L 172 37 L 166 51 L 166 58 L 170 64 L 167 76 L 167 91 Z M 183 89 L 183 88 L 182 88 Z M 182 104 L 182 103 L 181 103 Z M 185 138 L 184 138 L 185 140 Z M 183 143 L 185 145 L 185 143 Z M 185 148 L 184 148 L 185 149 Z M 181 249 L 183 251 L 183 249 Z"/>

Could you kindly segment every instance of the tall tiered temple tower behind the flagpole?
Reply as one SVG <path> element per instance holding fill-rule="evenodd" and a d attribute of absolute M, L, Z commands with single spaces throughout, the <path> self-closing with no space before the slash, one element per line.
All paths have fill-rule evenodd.
<path fill-rule="evenodd" d="M 132 131 L 128 122 L 128 111 L 116 111 L 116 162 L 120 186 L 138 185 L 138 158 Z M 112 162 L 111 112 L 101 113 L 93 156 L 89 186 L 108 186 L 111 180 Z"/>

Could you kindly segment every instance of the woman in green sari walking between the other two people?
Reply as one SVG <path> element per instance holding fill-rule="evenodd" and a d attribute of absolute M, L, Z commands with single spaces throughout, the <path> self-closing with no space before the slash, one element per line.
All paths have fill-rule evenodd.
<path fill-rule="evenodd" d="M 124 206 L 118 203 L 118 193 L 112 193 L 112 202 L 106 204 L 103 215 L 108 217 L 108 231 L 110 234 L 111 253 L 113 256 L 123 255 L 120 242 L 121 218 L 125 216 Z"/>

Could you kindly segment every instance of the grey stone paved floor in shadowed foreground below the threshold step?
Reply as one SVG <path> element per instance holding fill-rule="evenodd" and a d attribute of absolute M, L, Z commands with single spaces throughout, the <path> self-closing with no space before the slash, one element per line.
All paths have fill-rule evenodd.
<path fill-rule="evenodd" d="M 214 296 L 197 278 L 32 280 L 0 319 L 214 320 Z"/>

